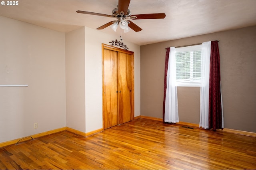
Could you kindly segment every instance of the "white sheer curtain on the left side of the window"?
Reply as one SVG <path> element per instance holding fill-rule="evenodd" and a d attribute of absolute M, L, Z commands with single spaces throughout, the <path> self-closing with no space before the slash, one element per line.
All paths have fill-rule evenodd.
<path fill-rule="evenodd" d="M 165 101 L 164 122 L 178 123 L 178 97 L 176 86 L 176 61 L 175 47 L 170 47 L 168 70 L 167 70 L 167 87 Z"/>

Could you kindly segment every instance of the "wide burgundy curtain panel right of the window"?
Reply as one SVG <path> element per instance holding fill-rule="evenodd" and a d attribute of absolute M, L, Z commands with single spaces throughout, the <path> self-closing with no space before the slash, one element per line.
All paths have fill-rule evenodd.
<path fill-rule="evenodd" d="M 210 81 L 209 81 L 209 128 L 222 128 L 222 109 L 220 91 L 220 53 L 218 41 L 211 43 Z"/>

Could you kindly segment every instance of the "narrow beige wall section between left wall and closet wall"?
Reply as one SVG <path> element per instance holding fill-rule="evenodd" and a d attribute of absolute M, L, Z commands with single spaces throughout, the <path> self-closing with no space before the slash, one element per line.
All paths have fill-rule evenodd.
<path fill-rule="evenodd" d="M 84 27 L 66 33 L 66 126 L 85 132 Z"/>

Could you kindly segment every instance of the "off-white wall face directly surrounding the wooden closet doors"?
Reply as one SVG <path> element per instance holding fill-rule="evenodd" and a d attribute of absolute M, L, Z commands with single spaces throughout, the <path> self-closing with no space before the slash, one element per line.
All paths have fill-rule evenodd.
<path fill-rule="evenodd" d="M 102 43 L 110 44 L 119 36 L 85 28 L 85 108 L 86 132 L 103 128 L 102 125 Z M 134 115 L 140 115 L 140 46 L 123 40 L 134 51 Z"/>

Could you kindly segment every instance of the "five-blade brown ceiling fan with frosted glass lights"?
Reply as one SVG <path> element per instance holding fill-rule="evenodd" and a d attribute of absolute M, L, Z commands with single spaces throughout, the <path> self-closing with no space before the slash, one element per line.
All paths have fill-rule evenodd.
<path fill-rule="evenodd" d="M 142 19 L 162 19 L 162 18 L 165 18 L 166 16 L 165 13 L 132 15 L 131 11 L 128 9 L 129 4 L 130 4 L 130 0 L 118 0 L 117 8 L 114 8 L 114 10 L 112 10 L 112 15 L 80 11 L 80 10 L 76 12 L 81 14 L 90 14 L 90 15 L 117 18 L 116 21 L 110 21 L 107 24 L 104 24 L 103 26 L 100 26 L 99 28 L 96 28 L 96 29 L 102 30 L 108 26 L 111 26 L 111 28 L 114 31 L 116 31 L 118 25 L 120 24 L 120 28 L 124 29 L 124 32 L 130 31 L 130 29 L 134 30 L 135 32 L 139 32 L 142 30 L 139 26 L 134 24 L 132 21 L 130 20 L 126 21 L 125 20 L 126 18 L 130 18 L 132 20 L 142 20 Z"/>

